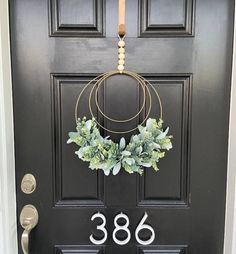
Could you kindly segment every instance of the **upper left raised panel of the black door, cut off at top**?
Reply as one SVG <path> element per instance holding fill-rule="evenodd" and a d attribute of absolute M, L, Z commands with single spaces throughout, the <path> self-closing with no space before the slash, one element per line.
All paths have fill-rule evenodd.
<path fill-rule="evenodd" d="M 51 36 L 102 37 L 103 0 L 49 0 Z"/>

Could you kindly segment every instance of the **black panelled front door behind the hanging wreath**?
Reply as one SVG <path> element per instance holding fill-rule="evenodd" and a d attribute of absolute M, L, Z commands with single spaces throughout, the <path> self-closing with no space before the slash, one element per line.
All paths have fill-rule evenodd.
<path fill-rule="evenodd" d="M 80 91 L 117 66 L 117 2 L 10 1 L 18 217 L 27 204 L 39 213 L 30 253 L 222 254 L 234 1 L 126 1 L 126 69 L 159 91 L 174 148 L 159 172 L 104 176 L 66 141 Z M 131 116 L 142 102 L 128 77 L 108 79 L 100 93 L 114 118 Z M 154 103 L 151 116 L 158 114 Z M 26 173 L 37 181 L 31 194 L 21 190 Z M 94 214 L 100 218 L 91 221 Z M 155 232 L 149 245 L 142 241 L 152 231 L 135 237 L 145 214 Z M 19 241 L 22 232 L 19 223 Z"/>

